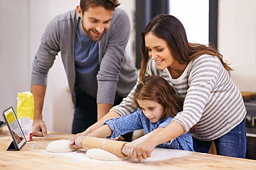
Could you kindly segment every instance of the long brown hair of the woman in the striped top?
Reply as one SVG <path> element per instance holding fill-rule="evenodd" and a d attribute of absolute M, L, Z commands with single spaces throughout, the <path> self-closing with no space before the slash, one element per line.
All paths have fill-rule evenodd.
<path fill-rule="evenodd" d="M 201 55 L 213 55 L 218 57 L 223 64 L 223 67 L 225 67 L 229 73 L 233 70 L 223 61 L 223 56 L 213 45 L 206 46 L 188 42 L 185 28 L 177 18 L 167 14 L 159 14 L 149 22 L 142 32 L 142 64 L 139 72 L 140 81 L 146 76 L 146 67 L 149 62 L 149 52 L 145 47 L 145 35 L 149 32 L 153 33 L 158 38 L 166 40 L 174 60 L 177 60 L 180 64 L 186 64 Z"/>

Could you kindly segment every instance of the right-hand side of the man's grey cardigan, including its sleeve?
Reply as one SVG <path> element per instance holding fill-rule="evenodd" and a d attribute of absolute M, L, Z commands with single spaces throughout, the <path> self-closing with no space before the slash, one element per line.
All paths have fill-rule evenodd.
<path fill-rule="evenodd" d="M 103 51 L 99 53 L 102 58 L 97 74 L 97 103 L 113 104 L 116 92 L 126 97 L 137 81 L 134 62 L 125 52 L 130 32 L 128 15 L 117 8 L 111 22 L 105 42 L 100 42 Z"/>

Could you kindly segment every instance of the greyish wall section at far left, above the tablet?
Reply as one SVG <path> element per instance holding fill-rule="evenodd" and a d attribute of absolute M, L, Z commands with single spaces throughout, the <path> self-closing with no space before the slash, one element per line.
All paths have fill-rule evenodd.
<path fill-rule="evenodd" d="M 16 111 L 19 91 L 29 91 L 28 0 L 1 0 L 0 5 L 0 113 Z M 0 120 L 3 120 L 2 114 Z"/>

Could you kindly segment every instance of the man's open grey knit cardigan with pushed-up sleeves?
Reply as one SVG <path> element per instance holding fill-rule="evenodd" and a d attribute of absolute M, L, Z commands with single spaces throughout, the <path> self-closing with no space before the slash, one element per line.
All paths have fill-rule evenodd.
<path fill-rule="evenodd" d="M 76 10 L 72 10 L 55 16 L 48 23 L 31 71 L 31 84 L 46 86 L 48 71 L 60 52 L 74 104 L 76 102 L 74 45 L 78 18 Z M 125 53 L 129 31 L 127 13 L 116 8 L 110 28 L 99 41 L 100 70 L 97 74 L 98 86 L 95 87 L 97 103 L 113 104 L 116 93 L 125 97 L 136 84 L 137 72 L 134 62 Z"/>

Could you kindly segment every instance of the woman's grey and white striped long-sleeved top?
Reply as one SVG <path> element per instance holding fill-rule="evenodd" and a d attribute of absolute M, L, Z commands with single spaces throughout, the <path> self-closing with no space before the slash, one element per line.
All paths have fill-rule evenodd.
<path fill-rule="evenodd" d="M 215 140 L 245 118 L 242 95 L 217 57 L 202 55 L 189 62 L 178 79 L 172 79 L 167 68 L 159 70 L 156 63 L 149 60 L 147 75 L 163 77 L 174 86 L 184 104 L 183 111 L 177 113 L 173 120 L 180 123 L 185 132 L 196 125 L 193 137 L 198 140 Z M 136 88 L 137 85 L 134 86 Z M 134 112 L 136 108 L 131 100 L 134 89 L 111 111 L 120 115 Z"/>

